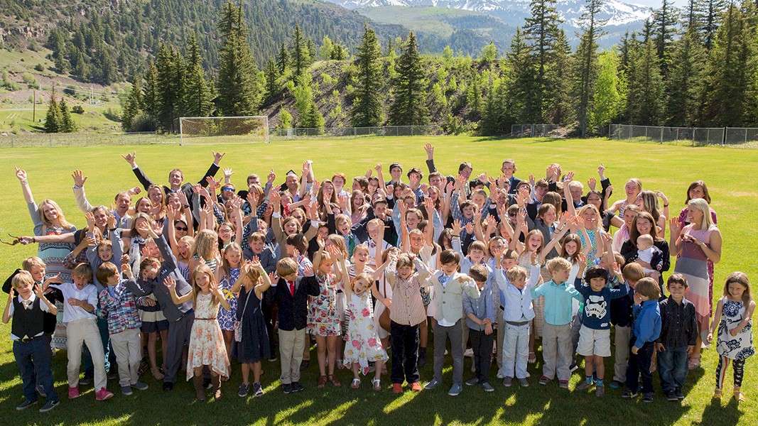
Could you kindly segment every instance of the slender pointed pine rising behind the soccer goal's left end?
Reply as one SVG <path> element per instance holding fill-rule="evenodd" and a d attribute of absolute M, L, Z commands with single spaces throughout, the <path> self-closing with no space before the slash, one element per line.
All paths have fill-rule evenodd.
<path fill-rule="evenodd" d="M 208 117 L 213 114 L 213 94 L 205 80 L 202 55 L 195 35 L 189 38 L 188 61 L 184 79 L 183 114 L 187 117 Z"/>

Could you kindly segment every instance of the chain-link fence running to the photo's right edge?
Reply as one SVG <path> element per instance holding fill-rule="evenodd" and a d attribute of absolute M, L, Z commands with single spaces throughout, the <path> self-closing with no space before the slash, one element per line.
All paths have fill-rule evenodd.
<path fill-rule="evenodd" d="M 691 146 L 731 146 L 758 148 L 758 128 L 745 127 L 663 127 L 610 124 L 609 138 Z"/>

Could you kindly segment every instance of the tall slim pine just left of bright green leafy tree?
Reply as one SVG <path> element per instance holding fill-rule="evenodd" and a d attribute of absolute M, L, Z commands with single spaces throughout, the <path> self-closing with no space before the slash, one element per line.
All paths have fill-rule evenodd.
<path fill-rule="evenodd" d="M 587 136 L 587 121 L 592 110 L 595 82 L 597 80 L 597 39 L 603 35 L 601 27 L 605 24 L 599 20 L 603 3 L 601 0 L 586 0 L 581 26 L 584 32 L 579 39 L 575 56 L 575 105 L 581 137 Z"/>

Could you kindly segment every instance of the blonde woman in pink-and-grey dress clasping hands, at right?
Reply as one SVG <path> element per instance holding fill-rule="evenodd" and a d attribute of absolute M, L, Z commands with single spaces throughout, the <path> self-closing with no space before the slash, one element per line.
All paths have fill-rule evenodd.
<path fill-rule="evenodd" d="M 695 349 L 690 356 L 690 368 L 700 365 L 700 345 L 709 330 L 709 319 L 713 314 L 713 278 L 708 272 L 708 260 L 721 260 L 722 236 L 713 224 L 710 208 L 705 199 L 691 199 L 687 207 L 690 223 L 679 227 L 679 219 L 669 221 L 671 227 L 671 254 L 676 255 L 675 272 L 683 274 L 689 284 L 684 296 L 695 305 L 698 330 Z"/>

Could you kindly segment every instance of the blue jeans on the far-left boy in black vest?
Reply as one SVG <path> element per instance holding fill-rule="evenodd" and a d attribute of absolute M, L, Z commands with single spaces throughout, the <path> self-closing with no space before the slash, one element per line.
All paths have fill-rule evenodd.
<path fill-rule="evenodd" d="M 50 343 L 43 337 L 37 337 L 28 342 L 14 341 L 13 356 L 16 358 L 18 369 L 21 371 L 23 382 L 23 397 L 27 401 L 37 400 L 36 386 L 39 382 L 45 390 L 48 401 L 58 401 L 58 393 L 52 381 L 52 352 Z"/>

